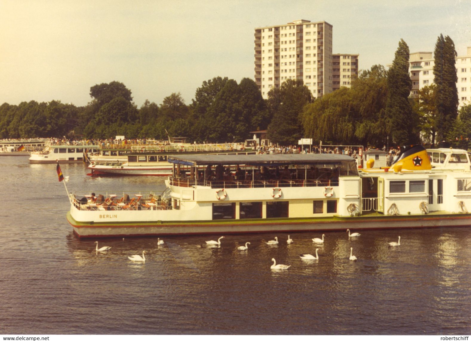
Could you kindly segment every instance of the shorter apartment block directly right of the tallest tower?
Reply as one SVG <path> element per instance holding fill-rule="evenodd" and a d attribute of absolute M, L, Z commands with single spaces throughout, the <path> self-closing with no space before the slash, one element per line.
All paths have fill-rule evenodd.
<path fill-rule="evenodd" d="M 332 55 L 332 89 L 350 87 L 353 78 L 358 77 L 358 54 Z"/>

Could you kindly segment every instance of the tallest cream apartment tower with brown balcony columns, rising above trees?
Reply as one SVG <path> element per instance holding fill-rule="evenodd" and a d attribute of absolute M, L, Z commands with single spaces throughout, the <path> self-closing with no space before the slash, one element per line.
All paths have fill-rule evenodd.
<path fill-rule="evenodd" d="M 300 79 L 313 97 L 331 93 L 332 25 L 294 20 L 255 28 L 255 82 L 263 98 L 286 79 Z"/>

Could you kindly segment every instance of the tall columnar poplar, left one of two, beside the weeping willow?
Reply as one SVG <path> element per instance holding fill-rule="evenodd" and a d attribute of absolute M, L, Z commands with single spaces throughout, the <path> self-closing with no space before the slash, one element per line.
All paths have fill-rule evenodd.
<path fill-rule="evenodd" d="M 387 84 L 387 132 L 390 132 L 393 142 L 399 145 L 417 143 L 418 135 L 414 134 L 414 123 L 417 120 L 409 102 L 412 90 L 412 80 L 409 76 L 409 47 L 402 39 L 388 71 Z"/>

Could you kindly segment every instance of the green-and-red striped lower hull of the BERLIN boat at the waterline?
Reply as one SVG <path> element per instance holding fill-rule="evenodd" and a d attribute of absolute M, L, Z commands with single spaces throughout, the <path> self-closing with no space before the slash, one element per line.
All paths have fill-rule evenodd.
<path fill-rule="evenodd" d="M 111 213 L 111 212 L 110 212 Z M 110 214 L 110 217 L 114 216 Z M 324 219 L 256 219 L 199 222 L 77 222 L 70 212 L 67 220 L 79 238 L 146 237 L 264 232 L 308 232 L 434 227 L 469 227 L 471 214 L 428 214 L 414 216 L 339 217 Z"/>

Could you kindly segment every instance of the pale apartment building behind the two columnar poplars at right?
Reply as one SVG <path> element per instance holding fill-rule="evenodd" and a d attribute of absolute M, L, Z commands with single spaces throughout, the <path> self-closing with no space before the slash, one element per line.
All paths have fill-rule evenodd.
<path fill-rule="evenodd" d="M 433 65 L 434 58 L 432 52 L 414 52 L 409 56 L 409 74 L 412 80 L 413 97 L 418 96 L 419 90 L 427 85 L 433 84 Z M 467 48 L 466 56 L 457 56 L 455 58 L 456 89 L 458 90 L 459 106 L 471 102 L 471 47 Z"/>

